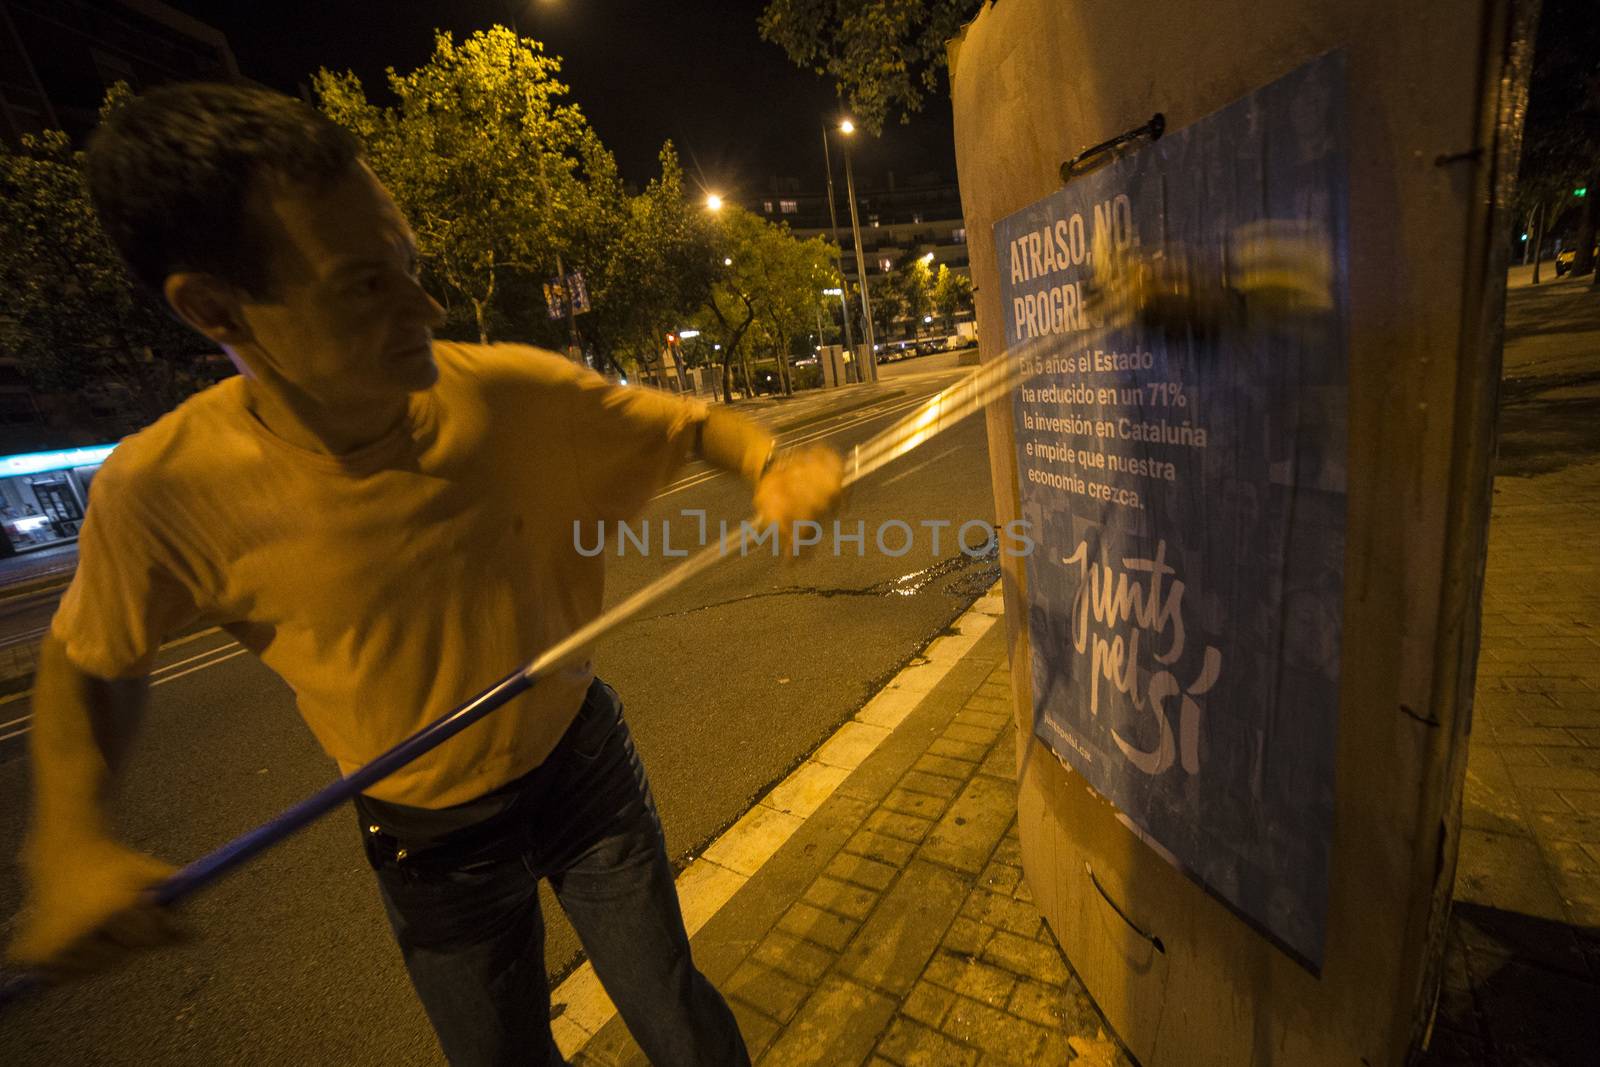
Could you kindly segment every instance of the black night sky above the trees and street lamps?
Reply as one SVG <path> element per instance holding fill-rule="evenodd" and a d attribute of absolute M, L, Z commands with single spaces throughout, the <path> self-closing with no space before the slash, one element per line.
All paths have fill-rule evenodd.
<path fill-rule="evenodd" d="M 760 38 L 762 0 L 166 0 L 227 34 L 245 75 L 294 91 L 317 67 L 350 69 L 378 99 L 384 67 L 410 70 L 432 30 L 517 27 L 563 59 L 563 80 L 624 178 L 643 184 L 670 138 L 691 179 L 723 195 L 766 192 L 770 176 L 822 182 L 821 122 L 832 85 Z M 859 136 L 859 134 L 858 134 Z M 950 104 L 858 147 L 858 178 L 955 178 Z M 835 166 L 838 160 L 835 158 Z"/>

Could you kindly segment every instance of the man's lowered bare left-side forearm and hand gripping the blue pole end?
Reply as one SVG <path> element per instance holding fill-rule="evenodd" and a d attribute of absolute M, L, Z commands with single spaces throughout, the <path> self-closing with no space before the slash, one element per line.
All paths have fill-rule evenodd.
<path fill-rule="evenodd" d="M 173 867 L 112 840 L 107 800 L 138 731 L 144 678 L 96 678 L 46 635 L 34 677 L 34 817 L 22 851 L 27 902 L 6 949 L 13 963 L 77 974 L 128 949 L 171 941 L 146 897 Z"/>

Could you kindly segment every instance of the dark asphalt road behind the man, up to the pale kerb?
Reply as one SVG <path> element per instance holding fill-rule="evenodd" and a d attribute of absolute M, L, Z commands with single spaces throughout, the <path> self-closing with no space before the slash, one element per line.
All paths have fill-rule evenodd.
<path fill-rule="evenodd" d="M 955 379 L 954 357 L 885 368 L 877 386 L 758 410 L 792 426 L 787 443 L 840 450 L 866 440 Z M 872 398 L 845 414 L 827 411 Z M 611 553 L 608 601 L 674 560 L 659 555 L 747 509 L 726 477 L 690 467 L 646 512 L 658 541 Z M 997 577 L 955 545 L 955 528 L 992 520 L 981 419 L 858 486 L 845 542 L 798 561 L 733 558 L 675 592 L 598 651 L 650 768 L 669 849 L 685 862 L 845 721 L 870 693 Z M 899 557 L 874 545 L 882 522 L 912 530 Z M 949 522 L 933 552 L 923 522 Z M 898 550 L 902 534 L 886 536 Z M 829 537 L 830 541 L 830 537 Z M 981 536 L 973 531 L 971 542 Z M 530 653 L 534 649 L 530 649 Z M 510 664 L 507 664 L 510 667 Z M 19 905 L 14 856 L 27 805 L 27 699 L 0 702 L 0 915 Z M 170 646 L 115 803 L 125 840 L 184 862 L 262 822 L 333 777 L 288 689 L 222 633 Z M 576 939 L 546 894 L 547 961 L 568 971 Z M 184 907 L 194 936 L 125 968 L 59 987 L 0 1017 L 5 1064 L 430 1064 L 442 1062 L 382 917 L 357 840 L 339 811 Z"/>

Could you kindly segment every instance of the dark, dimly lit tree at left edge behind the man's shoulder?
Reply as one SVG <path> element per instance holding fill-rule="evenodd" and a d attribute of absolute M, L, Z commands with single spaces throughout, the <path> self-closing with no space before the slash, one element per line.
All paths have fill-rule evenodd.
<path fill-rule="evenodd" d="M 128 429 L 213 378 L 214 346 L 128 277 L 61 131 L 0 141 L 0 352 L 43 392 L 109 394 Z"/>

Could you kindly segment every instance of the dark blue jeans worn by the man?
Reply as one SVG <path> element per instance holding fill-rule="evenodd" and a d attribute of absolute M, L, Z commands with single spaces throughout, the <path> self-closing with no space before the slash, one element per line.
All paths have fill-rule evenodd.
<path fill-rule="evenodd" d="M 656 805 L 610 686 L 590 686 L 560 744 L 512 792 L 491 819 L 426 835 L 419 848 L 357 805 L 411 984 L 450 1062 L 566 1062 L 544 973 L 539 878 L 549 878 L 651 1064 L 746 1067 L 733 1013 L 690 958 Z"/>

